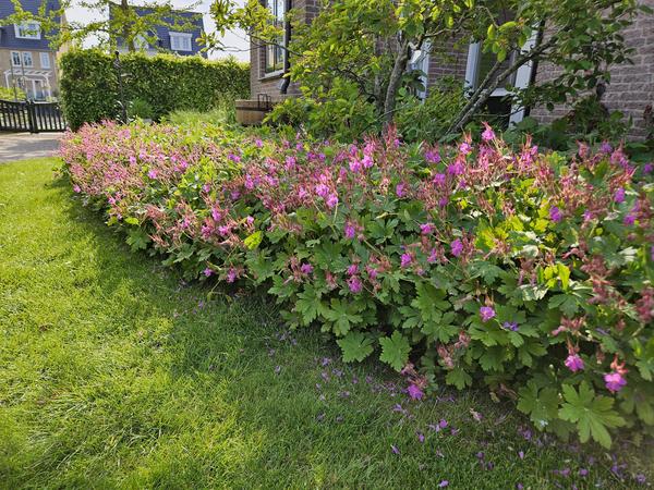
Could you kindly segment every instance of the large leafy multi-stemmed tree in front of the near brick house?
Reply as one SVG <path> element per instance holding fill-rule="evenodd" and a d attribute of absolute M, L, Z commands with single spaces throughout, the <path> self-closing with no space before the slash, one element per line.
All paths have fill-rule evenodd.
<path fill-rule="evenodd" d="M 239 25 L 275 42 L 262 9 L 256 0 L 240 9 L 216 0 L 213 13 L 219 26 Z M 509 87 L 520 105 L 560 102 L 609 81 L 609 68 L 629 60 L 621 32 L 640 10 L 635 0 L 332 0 L 311 24 L 293 23 L 288 76 L 318 103 L 354 91 L 390 124 L 413 52 L 428 44 L 447 63 L 443 47 L 479 41 L 495 62 L 453 119 L 456 132 L 526 63 L 559 71 L 526 90 Z"/>

